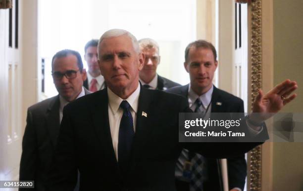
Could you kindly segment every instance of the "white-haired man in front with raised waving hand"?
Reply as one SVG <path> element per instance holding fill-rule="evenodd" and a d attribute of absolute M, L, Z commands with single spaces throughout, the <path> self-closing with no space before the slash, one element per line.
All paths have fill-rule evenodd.
<path fill-rule="evenodd" d="M 205 156 L 228 157 L 260 144 L 218 144 L 209 149 L 205 143 L 179 143 L 179 113 L 191 112 L 187 100 L 140 85 L 144 54 L 129 32 L 105 32 L 99 40 L 98 59 L 107 88 L 64 108 L 50 172 L 51 191 L 72 190 L 77 169 L 81 191 L 175 191 L 175 165 L 183 148 Z M 289 80 L 266 95 L 260 93 L 253 112 L 278 112 L 296 97 L 288 97 L 294 87 L 296 82 Z M 286 92 L 283 104 L 281 97 L 277 99 L 277 90 Z M 264 97 L 270 100 L 266 105 Z M 251 120 L 261 123 L 268 118 L 258 116 Z M 264 132 L 259 127 L 254 130 Z"/>

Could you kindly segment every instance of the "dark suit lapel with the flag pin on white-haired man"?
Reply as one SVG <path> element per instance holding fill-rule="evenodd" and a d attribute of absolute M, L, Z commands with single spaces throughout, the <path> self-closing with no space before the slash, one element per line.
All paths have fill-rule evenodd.
<path fill-rule="evenodd" d="M 132 156 L 130 170 L 134 169 L 138 158 L 140 157 L 142 150 L 148 140 L 148 135 L 150 134 L 151 126 L 149 122 L 150 116 L 150 105 L 151 105 L 151 94 L 148 92 L 151 90 L 145 89 L 141 86 L 138 111 L 137 111 L 137 123 L 136 132 L 134 137 L 134 142 L 132 146 Z"/>

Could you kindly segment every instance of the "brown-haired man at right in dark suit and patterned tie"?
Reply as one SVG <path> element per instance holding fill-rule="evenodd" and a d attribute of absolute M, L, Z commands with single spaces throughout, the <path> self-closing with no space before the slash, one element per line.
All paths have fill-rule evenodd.
<path fill-rule="evenodd" d="M 243 100 L 212 84 L 214 72 L 218 66 L 215 47 L 205 41 L 196 40 L 185 49 L 184 68 L 190 75 L 190 83 L 185 86 L 168 89 L 167 92 L 184 96 L 193 112 L 244 113 Z M 197 106 L 198 103 L 201 103 Z M 217 104 L 220 103 L 220 104 Z M 207 115 L 207 116 L 206 116 Z M 184 163 L 192 164 L 191 178 L 184 177 Z M 228 158 L 228 182 L 230 191 L 243 191 L 247 174 L 245 155 Z M 199 169 L 199 170 L 198 170 Z M 176 187 L 178 191 L 221 191 L 222 181 L 218 159 L 205 158 L 199 154 L 182 151 L 176 166 Z M 199 177 L 199 178 L 196 178 Z M 186 183 L 186 181 L 188 181 Z M 184 186 L 186 188 L 184 188 Z"/>

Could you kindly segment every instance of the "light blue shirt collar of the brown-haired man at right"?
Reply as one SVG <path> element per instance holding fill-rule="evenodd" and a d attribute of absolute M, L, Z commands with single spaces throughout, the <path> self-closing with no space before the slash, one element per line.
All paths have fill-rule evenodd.
<path fill-rule="evenodd" d="M 212 96 L 212 92 L 213 92 L 213 85 L 211 86 L 211 88 L 205 92 L 204 94 L 202 94 L 201 96 L 197 95 L 194 90 L 191 87 L 191 84 L 189 84 L 188 87 L 188 103 L 189 103 L 189 107 L 192 107 L 192 105 L 195 103 L 195 101 L 197 100 L 197 98 L 200 98 L 204 108 L 206 109 L 207 106 L 210 104 L 211 102 L 211 96 Z"/>

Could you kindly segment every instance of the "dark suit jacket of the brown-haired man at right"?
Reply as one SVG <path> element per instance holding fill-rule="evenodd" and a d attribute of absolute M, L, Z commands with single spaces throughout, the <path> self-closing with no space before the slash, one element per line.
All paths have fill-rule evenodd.
<path fill-rule="evenodd" d="M 188 88 L 189 84 L 168 89 L 167 92 L 179 94 L 188 99 Z M 222 103 L 222 105 L 217 105 L 217 102 Z M 244 113 L 243 100 L 214 86 L 211 97 L 211 112 Z M 207 180 L 203 183 L 203 191 L 220 191 L 219 176 L 221 175 L 218 173 L 218 162 L 213 158 L 205 158 L 205 160 Z M 247 175 L 245 155 L 228 158 L 227 161 L 229 189 L 237 187 L 243 191 Z"/>

